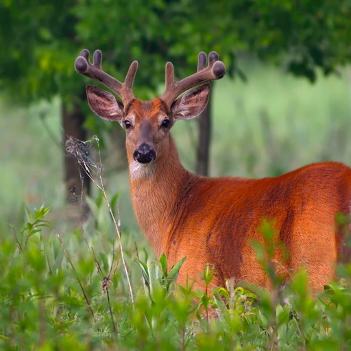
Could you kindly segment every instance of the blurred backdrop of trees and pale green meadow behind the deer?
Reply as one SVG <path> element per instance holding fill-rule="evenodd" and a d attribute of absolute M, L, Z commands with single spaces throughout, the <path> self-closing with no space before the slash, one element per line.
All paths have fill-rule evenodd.
<path fill-rule="evenodd" d="M 65 221 L 72 189 L 95 197 L 64 142 L 97 135 L 106 189 L 119 193 L 122 226 L 138 231 L 123 131 L 90 112 L 85 86 L 95 83 L 74 70 L 85 48 L 101 49 L 104 70 L 121 81 L 138 60 L 142 99 L 162 93 L 167 61 L 179 80 L 199 51 L 219 53 L 227 74 L 208 110 L 173 128 L 184 166 L 197 173 L 351 165 L 350 18 L 346 0 L 0 0 L 1 230 L 23 221 L 24 206 L 51 206 L 53 221 Z"/>

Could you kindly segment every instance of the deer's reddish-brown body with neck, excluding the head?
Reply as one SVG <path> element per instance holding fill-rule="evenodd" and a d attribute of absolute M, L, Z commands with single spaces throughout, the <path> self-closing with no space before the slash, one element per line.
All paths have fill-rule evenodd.
<path fill-rule="evenodd" d="M 251 180 L 199 177 L 186 171 L 178 158 L 172 160 L 171 165 L 160 160 L 150 178 L 130 178 L 130 189 L 139 226 L 156 255 L 165 252 L 170 265 L 186 256 L 180 282 L 186 276 L 198 279 L 210 263 L 217 286 L 235 278 L 269 287 L 251 245 L 252 239 L 261 241 L 263 219 L 274 221 L 289 252 L 288 260 L 280 250 L 274 257 L 287 280 L 301 267 L 307 269 L 314 290 L 334 277 L 343 249 L 335 217 L 350 210 L 348 167 L 326 162 Z"/>

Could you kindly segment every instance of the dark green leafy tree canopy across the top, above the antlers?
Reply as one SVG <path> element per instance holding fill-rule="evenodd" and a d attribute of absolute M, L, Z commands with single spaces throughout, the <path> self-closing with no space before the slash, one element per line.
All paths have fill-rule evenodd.
<path fill-rule="evenodd" d="M 232 74 L 250 52 L 314 81 L 351 60 L 351 3 L 342 1 L 1 0 L 0 84 L 23 102 L 60 94 L 73 99 L 82 79 L 81 49 L 104 52 L 104 68 L 123 78 L 132 60 L 136 89 L 148 97 L 165 61 L 180 77 L 199 51 L 218 51 Z"/>

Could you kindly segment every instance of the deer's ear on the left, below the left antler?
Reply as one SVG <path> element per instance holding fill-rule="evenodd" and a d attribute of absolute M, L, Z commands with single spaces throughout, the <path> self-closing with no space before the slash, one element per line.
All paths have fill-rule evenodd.
<path fill-rule="evenodd" d="M 97 86 L 86 86 L 86 96 L 91 110 L 108 121 L 121 121 L 123 117 L 123 104 L 106 90 Z"/>

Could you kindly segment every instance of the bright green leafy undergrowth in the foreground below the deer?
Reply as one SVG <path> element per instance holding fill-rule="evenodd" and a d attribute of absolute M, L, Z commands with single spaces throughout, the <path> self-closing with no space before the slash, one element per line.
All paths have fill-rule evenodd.
<path fill-rule="evenodd" d="M 178 287 L 184 260 L 134 258 L 132 275 L 145 289 L 130 301 L 121 267 L 101 289 L 96 257 L 81 233 L 68 238 L 46 232 L 49 208 L 27 211 L 22 230 L 0 243 L 0 346 L 9 350 L 347 350 L 351 347 L 351 268 L 344 280 L 311 295 L 300 272 L 277 293 L 234 287 Z M 67 233 L 68 234 L 68 233 Z M 99 238 L 88 237 L 98 261 Z M 110 242 L 112 245 L 112 242 Z M 85 247 L 85 249 L 84 249 Z M 259 250 L 257 251 L 260 255 Z M 132 265 L 132 261 L 130 261 Z M 102 271 L 107 271 L 101 265 Z M 137 280 L 134 280 L 136 282 Z M 140 282 L 141 280 L 139 280 Z M 111 313 L 112 314 L 111 314 Z"/>

